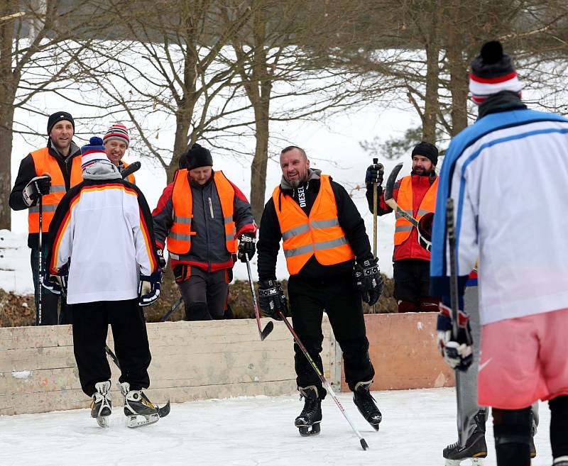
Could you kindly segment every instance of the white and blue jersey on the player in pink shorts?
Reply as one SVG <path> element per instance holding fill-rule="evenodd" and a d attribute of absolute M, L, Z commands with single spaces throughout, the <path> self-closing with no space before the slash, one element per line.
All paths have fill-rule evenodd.
<path fill-rule="evenodd" d="M 479 257 L 482 324 L 568 307 L 566 118 L 493 113 L 452 140 L 432 232 L 432 289 L 440 295 L 449 294 L 449 245 L 439 215 L 449 196 L 458 275 Z"/>

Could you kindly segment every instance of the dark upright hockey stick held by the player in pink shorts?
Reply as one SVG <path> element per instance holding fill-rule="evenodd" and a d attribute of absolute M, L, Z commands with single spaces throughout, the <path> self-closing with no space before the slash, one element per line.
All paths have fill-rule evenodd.
<path fill-rule="evenodd" d="M 446 230 L 449 243 L 449 301 L 452 306 L 452 336 L 457 341 L 459 331 L 458 322 L 458 289 L 457 289 L 457 259 L 456 259 L 456 229 L 454 223 L 454 199 L 449 197 L 446 201 Z M 463 446 L 464 425 L 461 410 L 461 374 L 459 369 L 454 370 L 456 378 L 456 398 L 457 398 L 457 438 L 459 445 Z"/>

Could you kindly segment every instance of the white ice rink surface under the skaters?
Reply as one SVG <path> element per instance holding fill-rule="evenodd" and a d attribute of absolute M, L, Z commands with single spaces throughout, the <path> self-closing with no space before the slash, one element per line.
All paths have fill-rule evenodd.
<path fill-rule="evenodd" d="M 148 390 L 152 397 L 152 391 Z M 322 432 L 300 437 L 293 426 L 298 396 L 257 396 L 173 404 L 152 426 L 124 426 L 116 400 L 111 426 L 102 429 L 87 409 L 0 416 L 1 466 L 433 466 L 456 440 L 453 389 L 373 392 L 383 413 L 376 432 L 361 417 L 351 394 L 339 399 L 366 439 L 364 451 L 331 397 L 322 403 Z M 163 401 L 163 400 L 155 400 Z M 532 466 L 552 463 L 550 411 L 540 404 L 540 428 Z M 488 422 L 494 466 L 493 432 Z"/>

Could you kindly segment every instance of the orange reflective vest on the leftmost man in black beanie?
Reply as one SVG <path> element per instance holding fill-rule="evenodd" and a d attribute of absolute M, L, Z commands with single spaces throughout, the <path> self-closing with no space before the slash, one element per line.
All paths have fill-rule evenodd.
<path fill-rule="evenodd" d="M 51 189 L 49 194 L 43 196 L 42 202 L 42 227 L 41 231 L 48 231 L 49 225 L 55 214 L 55 209 L 58 208 L 63 196 L 67 192 L 65 188 L 65 179 L 59 167 L 58 161 L 55 160 L 53 155 L 50 155 L 48 148 L 42 148 L 31 152 L 33 158 L 33 165 L 35 166 L 35 174 L 40 177 L 44 173 L 51 175 Z M 81 157 L 77 155 L 73 157 L 71 162 L 71 179 L 70 188 L 75 184 L 83 181 L 83 172 L 81 170 Z M 40 231 L 40 208 L 38 205 L 28 209 L 28 232 L 39 233 Z"/>

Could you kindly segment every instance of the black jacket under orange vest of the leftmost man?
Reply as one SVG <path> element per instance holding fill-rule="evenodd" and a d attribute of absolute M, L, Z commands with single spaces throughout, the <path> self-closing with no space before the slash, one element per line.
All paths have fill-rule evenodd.
<path fill-rule="evenodd" d="M 67 157 L 62 157 L 62 155 L 53 148 L 51 139 L 48 138 L 48 149 L 49 154 L 57 160 L 61 173 L 63 174 L 63 179 L 65 179 L 65 190 L 69 191 L 71 185 L 71 167 L 72 160 L 75 157 L 81 157 L 81 149 L 73 142 L 71 142 L 71 147 L 69 150 L 69 155 Z M 23 201 L 23 189 L 26 187 L 32 178 L 37 177 L 38 174 L 35 172 L 35 165 L 33 163 L 33 157 L 31 154 L 23 157 L 20 162 L 20 168 L 18 170 L 18 176 L 13 184 L 12 192 L 10 193 L 9 204 L 14 211 L 23 211 L 28 209 L 26 203 Z M 37 201 L 35 201 L 31 206 L 35 206 Z M 46 238 L 48 239 L 48 238 Z M 38 233 L 28 234 L 28 247 L 37 248 L 38 247 Z"/>

